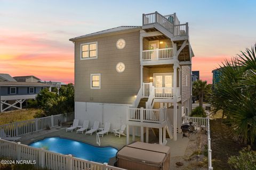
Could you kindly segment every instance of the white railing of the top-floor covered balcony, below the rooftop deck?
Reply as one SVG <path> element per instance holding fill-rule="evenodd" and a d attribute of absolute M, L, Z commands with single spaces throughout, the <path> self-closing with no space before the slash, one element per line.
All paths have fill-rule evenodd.
<path fill-rule="evenodd" d="M 142 51 L 142 61 L 167 60 L 173 58 L 173 48 L 150 49 Z"/>

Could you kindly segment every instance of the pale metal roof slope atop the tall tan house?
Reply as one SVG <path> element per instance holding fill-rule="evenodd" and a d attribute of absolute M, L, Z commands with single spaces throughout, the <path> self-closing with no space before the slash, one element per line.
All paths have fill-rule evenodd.
<path fill-rule="evenodd" d="M 141 26 L 120 26 L 120 27 L 110 28 L 110 29 L 107 29 L 107 30 L 102 30 L 102 31 L 98 31 L 98 32 L 89 33 L 89 34 L 86 34 L 84 36 L 71 38 L 69 40 L 74 41 L 74 40 L 80 39 L 80 38 L 98 36 L 98 35 L 102 35 L 102 34 L 105 34 L 105 33 L 119 32 L 119 31 L 139 29 L 139 28 L 141 28 Z"/>

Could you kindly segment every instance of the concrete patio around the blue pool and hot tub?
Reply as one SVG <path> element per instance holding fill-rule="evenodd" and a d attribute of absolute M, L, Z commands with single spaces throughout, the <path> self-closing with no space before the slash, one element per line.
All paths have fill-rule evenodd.
<path fill-rule="evenodd" d="M 62 138 L 68 138 L 73 139 L 76 141 L 81 141 L 85 143 L 89 143 L 94 146 L 98 146 L 96 143 L 96 134 L 88 135 L 85 133 L 76 133 L 73 132 L 66 132 L 65 126 L 57 126 L 55 128 L 52 128 L 51 130 L 43 130 L 39 132 L 34 132 L 31 134 L 25 134 L 21 136 L 21 143 L 24 145 L 29 145 L 31 142 L 41 140 L 46 137 L 62 137 Z M 182 138 L 182 134 L 177 134 L 177 141 L 170 140 L 167 138 L 167 144 L 166 146 L 169 146 L 171 148 L 171 157 L 176 156 L 183 156 L 185 155 L 185 151 L 188 145 L 188 138 Z M 158 138 L 156 138 L 158 139 Z M 136 141 L 140 141 L 140 137 L 135 137 Z M 132 142 L 132 137 L 130 136 L 130 142 Z M 100 137 L 100 143 L 101 147 L 103 146 L 111 146 L 116 149 L 121 149 L 123 146 L 126 145 L 126 137 L 122 136 L 121 138 L 116 137 L 114 133 L 108 133 L 108 135 L 104 135 L 104 137 Z M 156 143 L 156 142 L 155 142 Z"/>

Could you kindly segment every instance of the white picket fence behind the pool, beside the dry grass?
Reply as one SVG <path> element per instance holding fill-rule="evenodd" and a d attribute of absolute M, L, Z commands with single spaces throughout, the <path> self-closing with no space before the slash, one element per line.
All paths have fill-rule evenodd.
<path fill-rule="evenodd" d="M 47 127 L 52 128 L 58 126 L 63 122 L 72 121 L 74 118 L 74 113 L 70 113 L 67 116 L 64 114 L 51 115 L 47 117 L 35 118 L 32 120 L 0 125 L 0 131 L 3 129 L 6 135 L 10 135 L 11 137 L 18 137 L 23 134 L 44 130 Z"/>

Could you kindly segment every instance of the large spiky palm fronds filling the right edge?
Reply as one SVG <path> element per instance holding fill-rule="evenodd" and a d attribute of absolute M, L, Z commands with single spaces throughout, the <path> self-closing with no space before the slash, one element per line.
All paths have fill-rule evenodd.
<path fill-rule="evenodd" d="M 256 140 L 256 47 L 225 61 L 220 82 L 213 89 L 214 112 L 222 109 L 237 137 L 245 143 Z"/>

